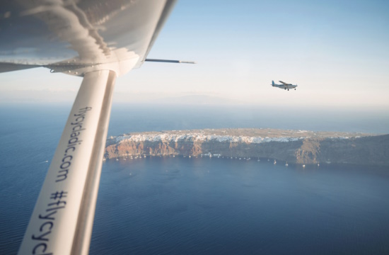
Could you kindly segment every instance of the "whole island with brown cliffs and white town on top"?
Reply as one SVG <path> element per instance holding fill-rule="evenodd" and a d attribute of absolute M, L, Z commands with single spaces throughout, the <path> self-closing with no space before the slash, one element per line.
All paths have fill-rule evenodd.
<path fill-rule="evenodd" d="M 269 128 L 132 132 L 109 137 L 104 159 L 145 156 L 274 159 L 389 166 L 389 135 Z"/>

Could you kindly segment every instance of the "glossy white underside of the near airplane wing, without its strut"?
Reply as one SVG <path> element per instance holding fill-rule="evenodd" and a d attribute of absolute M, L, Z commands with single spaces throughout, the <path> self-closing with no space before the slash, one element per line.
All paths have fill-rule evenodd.
<path fill-rule="evenodd" d="M 174 4 L 175 0 L 6 1 L 1 5 L 6 18 L 1 19 L 0 35 L 6 40 L 0 40 L 0 71 L 7 71 L 7 64 L 13 69 L 43 66 L 82 76 L 83 68 L 89 72 L 109 66 L 124 74 L 143 64 Z"/>

